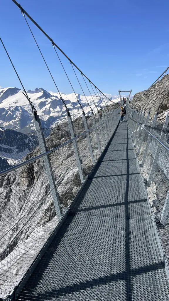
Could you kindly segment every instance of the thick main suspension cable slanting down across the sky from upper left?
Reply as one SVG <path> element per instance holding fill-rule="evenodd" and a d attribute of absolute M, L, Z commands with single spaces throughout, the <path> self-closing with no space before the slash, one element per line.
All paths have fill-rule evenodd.
<path fill-rule="evenodd" d="M 38 25 L 38 23 L 35 22 L 35 20 L 22 8 L 22 6 L 16 1 L 16 0 L 12 0 L 18 8 L 20 8 L 20 10 L 38 27 L 38 29 L 50 40 L 53 41 L 48 34 Z M 70 58 L 64 53 L 64 51 L 53 41 L 54 45 L 57 47 L 57 49 L 74 65 L 74 67 L 80 71 L 80 73 L 83 74 L 83 76 L 88 79 L 90 81 L 90 79 L 70 60 Z M 91 82 L 92 85 L 93 82 Z M 106 95 L 105 95 L 106 96 Z M 108 98 L 109 99 L 109 98 Z M 110 99 L 109 99 L 110 100 Z"/>

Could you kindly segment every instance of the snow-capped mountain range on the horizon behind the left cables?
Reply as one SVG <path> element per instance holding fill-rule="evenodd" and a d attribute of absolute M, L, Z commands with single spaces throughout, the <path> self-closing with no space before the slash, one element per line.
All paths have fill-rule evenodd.
<path fill-rule="evenodd" d="M 41 118 L 42 127 L 54 127 L 57 123 L 63 122 L 66 119 L 66 111 L 63 102 L 60 99 L 59 93 L 48 92 L 43 88 L 36 88 L 35 91 L 28 90 L 32 104 L 35 106 L 37 113 Z M 77 102 L 77 98 L 84 107 L 84 112 L 90 114 L 91 105 L 94 110 L 94 102 L 98 108 L 100 104 L 105 105 L 105 100 L 95 95 L 86 96 L 80 94 L 64 94 L 61 93 L 65 101 L 72 119 L 81 114 L 81 108 Z M 113 100 L 117 103 L 119 98 Z M 107 101 L 108 103 L 108 101 Z M 109 102 L 110 104 L 110 102 Z M 5 129 L 13 129 L 23 133 L 28 133 L 34 130 L 31 106 L 23 95 L 23 91 L 18 88 L 2 88 L 0 89 L 0 126 Z"/>

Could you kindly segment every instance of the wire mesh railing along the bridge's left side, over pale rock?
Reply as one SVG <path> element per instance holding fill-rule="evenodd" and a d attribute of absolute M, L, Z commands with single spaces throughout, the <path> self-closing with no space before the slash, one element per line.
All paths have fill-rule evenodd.
<path fill-rule="evenodd" d="M 0 172 L 0 298 L 11 295 L 69 209 L 118 124 L 117 112 L 110 110 L 106 115 L 103 111 L 106 118 L 97 112 L 94 119 L 92 116 L 74 119 L 71 121 L 74 138 L 68 122 L 53 129 L 40 127 L 27 142 L 18 138 L 19 149 L 23 143 L 31 141 L 32 145 L 26 156 L 17 161 L 19 164 Z M 11 141 L 9 146 L 15 146 L 14 140 Z M 61 217 L 57 214 L 57 203 Z"/>

